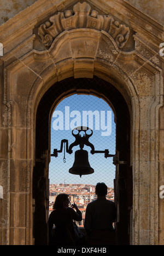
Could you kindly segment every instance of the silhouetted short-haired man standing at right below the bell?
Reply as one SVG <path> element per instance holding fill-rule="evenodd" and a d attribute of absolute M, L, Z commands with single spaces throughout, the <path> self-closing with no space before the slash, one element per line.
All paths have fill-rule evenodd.
<path fill-rule="evenodd" d="M 94 240 L 94 244 L 108 244 L 109 238 L 113 235 L 116 207 L 114 202 L 106 199 L 107 191 L 106 184 L 97 183 L 97 199 L 86 207 L 84 227 L 90 241 Z"/>

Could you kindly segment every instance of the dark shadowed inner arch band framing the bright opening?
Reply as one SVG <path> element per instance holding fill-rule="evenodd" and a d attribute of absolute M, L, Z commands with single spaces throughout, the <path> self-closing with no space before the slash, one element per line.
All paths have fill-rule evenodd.
<path fill-rule="evenodd" d="M 99 87 L 101 85 L 101 87 Z M 90 89 L 88 89 L 88 87 Z M 72 89 L 70 89 L 72 88 Z M 65 92 L 65 93 L 63 93 Z M 132 210 L 132 170 L 130 166 L 130 115 L 122 95 L 112 84 L 91 78 L 67 78 L 56 82 L 40 100 L 37 110 L 36 126 L 36 163 L 33 171 L 34 239 L 36 244 L 46 244 L 48 218 L 48 163 L 50 161 L 50 116 L 55 103 L 66 95 L 93 94 L 106 99 L 112 104 L 116 122 L 116 152 L 119 161 L 127 161 L 126 165 L 116 164 L 115 198 L 118 208 L 116 223 L 116 242 L 129 244 Z M 128 139 L 127 139 L 128 138 Z M 120 162 L 121 163 L 121 162 Z M 122 235 L 124 234 L 124 236 Z"/>

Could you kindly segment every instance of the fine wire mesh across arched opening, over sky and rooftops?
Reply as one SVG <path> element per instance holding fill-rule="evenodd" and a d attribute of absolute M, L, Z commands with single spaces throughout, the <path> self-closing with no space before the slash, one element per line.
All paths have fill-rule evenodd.
<path fill-rule="evenodd" d="M 72 95 L 63 99 L 52 115 L 51 120 L 51 153 L 54 149 L 60 150 L 61 140 L 67 139 L 68 146 L 75 138 L 72 129 L 79 126 L 87 126 L 93 130 L 89 138 L 95 150 L 109 150 L 115 154 L 115 122 L 114 113 L 110 106 L 103 99 L 93 95 Z M 81 132 L 81 136 L 85 135 Z M 71 202 L 76 202 L 83 212 L 84 225 L 85 208 L 87 203 L 95 200 L 95 186 L 98 182 L 104 182 L 108 186 L 109 200 L 114 201 L 114 178 L 115 166 L 113 158 L 104 157 L 104 153 L 91 154 L 91 147 L 84 145 L 84 150 L 89 153 L 89 163 L 94 173 L 89 175 L 74 175 L 68 172 L 74 163 L 74 153 L 79 150 L 79 145 L 73 147 L 73 153 L 63 151 L 57 157 L 51 156 L 49 164 L 50 180 L 50 204 L 49 212 L 52 211 L 52 204 L 56 195 L 66 193 L 70 196 Z M 66 158 L 63 159 L 63 158 Z"/>

